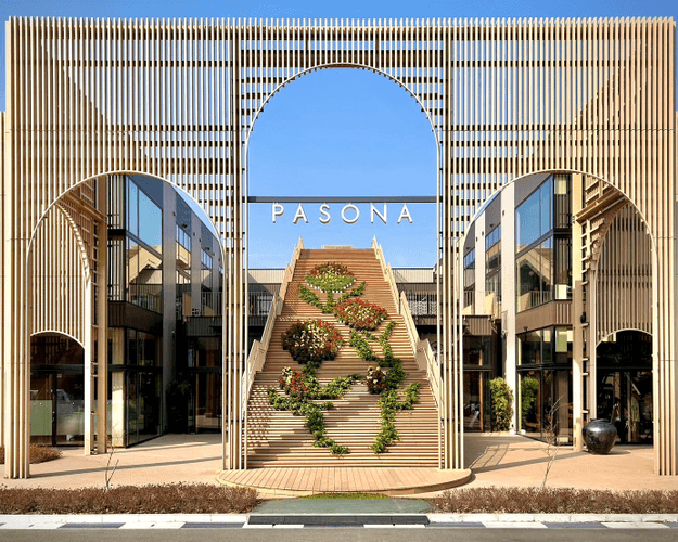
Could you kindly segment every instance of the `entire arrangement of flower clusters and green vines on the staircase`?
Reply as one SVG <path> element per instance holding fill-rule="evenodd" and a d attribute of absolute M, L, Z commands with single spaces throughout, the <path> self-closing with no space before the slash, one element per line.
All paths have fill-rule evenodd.
<path fill-rule="evenodd" d="M 379 305 L 361 299 L 367 285 L 362 282 L 356 288 L 344 292 L 351 286 L 356 278 L 341 263 L 327 262 L 316 266 L 305 278 L 308 285 L 325 293 L 325 302 L 311 292 L 309 287 L 299 286 L 299 298 L 318 307 L 324 314 L 334 314 L 336 319 L 351 327 L 348 341 L 358 356 L 364 361 L 379 362 L 376 369 L 368 367 L 367 385 L 370 393 L 380 395 L 381 411 L 380 431 L 370 447 L 374 453 L 388 451 L 388 447 L 400 440 L 394 422 L 399 410 L 412 410 L 419 400 L 420 383 L 412 383 L 405 388 L 405 399 L 398 400 L 398 388 L 406 379 L 402 362 L 394 357 L 389 339 L 396 325 L 388 322 L 378 334 L 381 324 L 388 320 L 388 311 Z M 344 292 L 335 302 L 334 294 Z M 374 332 L 374 333 L 373 333 Z M 372 344 L 381 347 L 383 357 L 374 352 Z M 320 388 L 316 373 L 323 360 L 333 360 L 344 346 L 344 339 L 334 325 L 322 319 L 297 321 L 282 334 L 282 347 L 290 352 L 292 359 L 306 364 L 298 373 L 291 367 L 282 370 L 279 386 L 286 397 L 280 396 L 276 388 L 268 388 L 270 404 L 276 410 L 291 411 L 294 415 L 306 416 L 305 427 L 310 431 L 315 447 L 328 448 L 332 454 L 349 453 L 348 448 L 337 444 L 327 437 L 323 411 L 331 409 L 333 403 L 314 402 L 327 399 L 338 399 L 356 382 L 360 375 L 351 374 L 334 378 Z M 387 371 L 384 371 L 386 369 Z"/>

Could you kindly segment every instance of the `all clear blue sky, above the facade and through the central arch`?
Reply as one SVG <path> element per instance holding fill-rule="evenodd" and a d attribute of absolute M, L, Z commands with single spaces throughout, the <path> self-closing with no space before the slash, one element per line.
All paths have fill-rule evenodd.
<path fill-rule="evenodd" d="M 201 1 L 0 0 L 0 20 L 65 17 L 637 17 L 678 18 L 678 2 L 621 1 Z M 4 37 L 0 43 L 0 108 L 4 109 Z M 287 86 L 260 115 L 250 146 L 251 195 L 435 195 L 436 152 L 431 126 L 402 89 L 355 69 L 317 72 Z M 376 201 L 375 201 L 376 203 Z M 271 205 L 250 206 L 250 266 L 284 267 L 302 235 L 306 246 L 367 247 L 376 235 L 398 267 L 435 262 L 435 206 L 409 205 L 413 223 L 397 224 L 400 204 L 388 205 L 388 223 L 370 223 L 359 205 L 356 224 L 342 222 L 343 205 L 331 206 L 330 224 L 319 205 L 305 204 L 309 223 L 292 223 L 296 205 L 273 224 Z M 381 209 L 381 205 L 379 206 Z M 379 222 L 379 219 L 378 219 Z"/>

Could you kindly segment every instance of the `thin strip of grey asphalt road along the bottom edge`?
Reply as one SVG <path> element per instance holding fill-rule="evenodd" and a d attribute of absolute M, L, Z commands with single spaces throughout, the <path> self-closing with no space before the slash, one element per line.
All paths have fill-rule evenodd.
<path fill-rule="evenodd" d="M 322 530 L 322 532 L 318 532 Z M 675 529 L 464 529 L 426 528 L 426 529 L 174 529 L 174 530 L 120 530 L 120 529 L 64 529 L 61 532 L 39 530 L 1 531 L 3 541 L 71 542 L 133 541 L 133 542 L 663 542 L 676 541 Z M 271 532 L 274 531 L 274 532 Z"/>

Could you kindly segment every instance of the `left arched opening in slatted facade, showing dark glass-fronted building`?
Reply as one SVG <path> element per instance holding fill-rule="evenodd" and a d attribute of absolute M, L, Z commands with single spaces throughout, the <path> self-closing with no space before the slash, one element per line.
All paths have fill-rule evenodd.
<path fill-rule="evenodd" d="M 56 423 L 53 443 L 89 454 L 107 439 L 128 447 L 167 431 L 221 430 L 223 254 L 188 193 L 140 172 L 85 180 L 46 210 L 28 263 L 30 372 L 41 378 L 31 397 L 50 388 L 54 412 L 64 393 L 82 402 L 80 430 L 64 440 Z M 53 332 L 81 345 L 79 369 L 67 367 L 81 380 L 77 391 L 59 384 L 55 347 L 40 346 Z"/>

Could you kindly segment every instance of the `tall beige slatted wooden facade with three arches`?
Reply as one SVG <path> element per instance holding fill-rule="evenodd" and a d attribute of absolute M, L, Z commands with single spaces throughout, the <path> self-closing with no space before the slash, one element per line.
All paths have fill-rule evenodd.
<path fill-rule="evenodd" d="M 63 247 L 46 256 L 61 258 L 63 266 L 71 258 L 68 269 L 78 270 L 72 279 L 79 294 L 50 299 L 53 306 L 39 309 L 54 311 L 54 325 L 77 327 L 85 345 L 85 396 L 94 389 L 105 393 L 106 296 L 95 296 L 94 305 L 89 296 L 102 284 L 105 259 L 97 249 L 101 245 L 90 243 L 101 243 L 101 215 L 108 211 L 76 202 L 82 212 L 78 207 L 77 214 L 62 216 L 57 240 L 43 224 L 84 183 L 105 186 L 120 173 L 155 177 L 186 191 L 221 237 L 225 468 L 243 468 L 242 384 L 253 370 L 245 325 L 248 137 L 284 86 L 316 69 L 349 67 L 373 70 L 409 92 L 437 145 L 440 467 L 463 466 L 462 278 L 469 228 L 501 188 L 517 186 L 528 176 L 566 173 L 580 178 L 572 186 L 575 447 L 581 446 L 577 436 L 591 416 L 585 409 L 591 403 L 584 401 L 587 378 L 596 378 L 589 361 L 598 332 L 591 319 L 617 318 L 617 304 L 609 297 L 614 297 L 612 283 L 598 284 L 596 278 L 609 257 L 605 240 L 616 231 L 617 207 L 629 204 L 642 218 L 651 247 L 655 469 L 678 474 L 673 21 L 12 18 L 5 42 L 7 105 L 0 118 L 5 476 L 29 473 L 29 344 L 38 310 L 29 302 L 29 278 L 41 273 L 33 258 L 42 230 L 48 230 L 46 240 L 52 235 Z M 98 234 L 78 223 L 85 220 L 81 214 L 91 215 Z M 502 245 L 506 238 L 512 237 L 502 227 Z M 475 263 L 481 261 L 476 245 Z M 548 296 L 540 286 L 524 295 L 521 302 L 528 305 Z M 515 321 L 506 322 L 507 336 L 515 336 L 510 328 Z M 543 335 L 541 340 L 546 344 Z M 87 427 L 90 435 L 104 434 L 105 416 L 97 418 L 97 430 L 88 420 L 86 435 Z"/>

